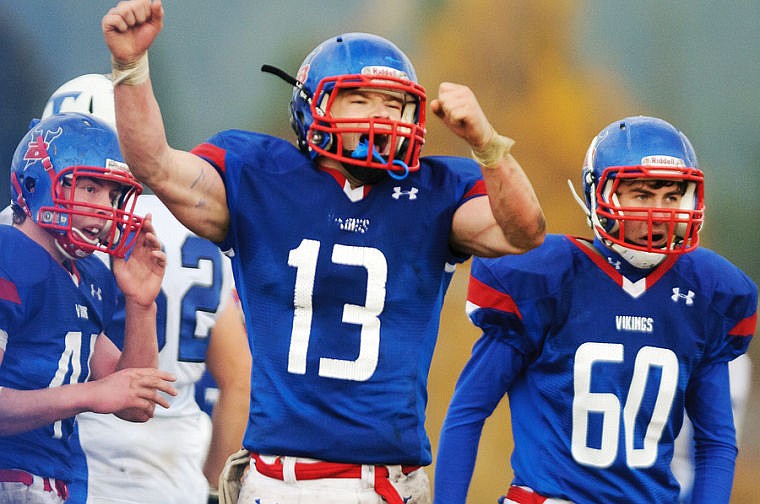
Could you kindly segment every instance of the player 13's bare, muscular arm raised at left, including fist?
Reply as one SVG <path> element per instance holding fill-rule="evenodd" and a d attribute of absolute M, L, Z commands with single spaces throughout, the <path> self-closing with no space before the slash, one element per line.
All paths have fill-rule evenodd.
<path fill-rule="evenodd" d="M 222 179 L 205 160 L 169 146 L 153 94 L 147 51 L 163 27 L 163 15 L 160 0 L 129 0 L 103 17 L 103 35 L 115 68 L 119 142 L 135 176 L 185 226 L 200 236 L 221 241 L 229 225 Z"/>

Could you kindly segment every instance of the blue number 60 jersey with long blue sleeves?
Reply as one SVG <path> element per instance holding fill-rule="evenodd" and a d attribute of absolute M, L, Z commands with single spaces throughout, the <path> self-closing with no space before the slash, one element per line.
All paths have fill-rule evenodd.
<path fill-rule="evenodd" d="M 703 248 L 638 278 L 602 250 L 552 235 L 524 255 L 473 260 L 467 307 L 483 336 L 446 417 L 436 503 L 464 502 L 504 393 L 515 485 L 574 502 L 677 502 L 669 465 L 685 406 L 713 450 L 705 462 L 730 469 L 709 477 L 730 492 L 727 362 L 754 332 L 757 287 Z"/>

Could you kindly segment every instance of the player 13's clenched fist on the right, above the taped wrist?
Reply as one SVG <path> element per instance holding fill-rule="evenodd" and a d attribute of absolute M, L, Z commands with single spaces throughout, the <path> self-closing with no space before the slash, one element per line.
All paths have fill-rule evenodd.
<path fill-rule="evenodd" d="M 438 86 L 438 98 L 430 102 L 430 108 L 446 127 L 473 149 L 485 145 L 494 134 L 493 126 L 467 86 L 442 82 Z"/>

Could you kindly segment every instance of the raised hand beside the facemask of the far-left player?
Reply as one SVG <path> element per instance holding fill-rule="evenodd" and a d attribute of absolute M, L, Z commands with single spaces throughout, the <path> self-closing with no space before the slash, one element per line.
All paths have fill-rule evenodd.
<path fill-rule="evenodd" d="M 161 290 L 166 271 L 166 254 L 153 228 L 150 214 L 128 259 L 114 257 L 112 265 L 116 282 L 127 301 L 151 306 Z"/>

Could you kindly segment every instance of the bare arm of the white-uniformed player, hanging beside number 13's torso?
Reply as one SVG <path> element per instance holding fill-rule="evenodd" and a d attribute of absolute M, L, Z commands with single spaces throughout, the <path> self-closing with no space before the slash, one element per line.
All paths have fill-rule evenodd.
<path fill-rule="evenodd" d="M 211 332 L 206 366 L 219 385 L 203 473 L 212 488 L 224 463 L 243 444 L 250 402 L 251 354 L 240 305 L 229 300 Z"/>

